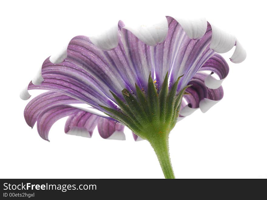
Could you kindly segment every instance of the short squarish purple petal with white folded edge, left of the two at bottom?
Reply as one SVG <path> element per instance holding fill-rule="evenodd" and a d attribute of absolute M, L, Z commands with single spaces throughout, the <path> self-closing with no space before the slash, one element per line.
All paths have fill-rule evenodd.
<path fill-rule="evenodd" d="M 88 113 L 86 111 L 79 111 L 69 118 L 65 124 L 65 133 L 71 135 L 79 135 L 84 137 L 91 137 L 96 127 L 97 121 L 101 117 L 94 114 Z M 86 130 L 85 134 L 83 134 Z"/>

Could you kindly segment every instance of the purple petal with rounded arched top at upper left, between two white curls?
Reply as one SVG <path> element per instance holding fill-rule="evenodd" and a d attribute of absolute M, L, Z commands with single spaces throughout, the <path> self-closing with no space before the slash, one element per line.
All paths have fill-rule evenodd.
<path fill-rule="evenodd" d="M 110 65 L 97 48 L 86 36 L 76 36 L 70 42 L 66 61 L 83 68 L 94 77 L 105 95 L 113 99 L 109 90 L 122 97 L 121 90 L 127 87 L 117 69 Z"/>

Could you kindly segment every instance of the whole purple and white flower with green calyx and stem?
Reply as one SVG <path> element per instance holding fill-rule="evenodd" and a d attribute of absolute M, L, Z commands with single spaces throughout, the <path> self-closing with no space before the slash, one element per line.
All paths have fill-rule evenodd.
<path fill-rule="evenodd" d="M 177 121 L 221 100 L 229 67 L 218 53 L 233 46 L 230 60 L 240 63 L 246 53 L 235 36 L 205 19 L 170 16 L 135 29 L 119 21 L 98 38 L 76 36 L 44 61 L 39 76 L 21 93 L 27 100 L 28 90 L 50 90 L 28 103 L 25 120 L 30 127 L 37 122 L 45 140 L 52 124 L 66 116 L 65 133 L 84 137 L 91 137 L 97 125 L 101 137 L 125 139 L 125 125 L 136 141 L 150 142 L 165 178 L 174 178 L 169 133 Z"/>

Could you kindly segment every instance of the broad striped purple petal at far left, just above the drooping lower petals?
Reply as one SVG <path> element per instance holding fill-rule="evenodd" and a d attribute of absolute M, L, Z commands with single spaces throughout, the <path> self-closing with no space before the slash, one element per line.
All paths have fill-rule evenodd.
<path fill-rule="evenodd" d="M 97 82 L 85 70 L 70 62 L 52 64 L 46 59 L 42 66 L 43 83 L 29 84 L 28 89 L 61 92 L 104 111 L 99 104 L 114 108 L 113 102 L 101 91 Z"/>

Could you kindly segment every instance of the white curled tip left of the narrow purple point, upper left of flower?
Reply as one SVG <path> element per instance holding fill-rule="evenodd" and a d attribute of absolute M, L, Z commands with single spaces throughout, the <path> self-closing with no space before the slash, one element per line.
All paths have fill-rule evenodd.
<path fill-rule="evenodd" d="M 118 24 L 111 26 L 106 31 L 89 37 L 91 42 L 100 49 L 111 50 L 118 46 Z"/>

